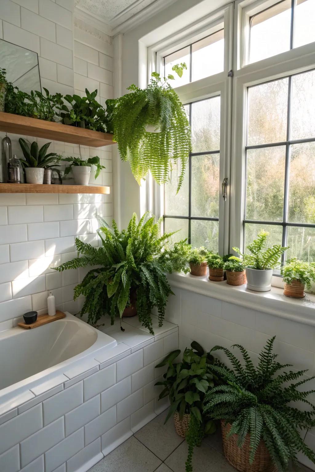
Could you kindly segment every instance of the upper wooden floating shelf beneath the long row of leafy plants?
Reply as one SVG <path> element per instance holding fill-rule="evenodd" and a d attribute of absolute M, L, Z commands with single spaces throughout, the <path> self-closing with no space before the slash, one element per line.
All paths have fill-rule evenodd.
<path fill-rule="evenodd" d="M 61 123 L 44 121 L 37 118 L 22 117 L 12 113 L 0 112 L 0 131 L 92 147 L 114 144 L 113 135 L 110 133 L 62 125 Z"/>

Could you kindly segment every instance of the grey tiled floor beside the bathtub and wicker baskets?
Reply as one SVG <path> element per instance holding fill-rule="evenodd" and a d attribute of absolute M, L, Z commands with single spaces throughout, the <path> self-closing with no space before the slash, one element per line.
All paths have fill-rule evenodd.
<path fill-rule="evenodd" d="M 154 418 L 89 472 L 185 472 L 187 444 L 177 435 L 172 419 L 163 424 L 166 414 Z M 196 472 L 235 472 L 222 453 L 220 431 L 195 449 L 193 468 Z M 294 471 L 311 472 L 304 466 Z"/>

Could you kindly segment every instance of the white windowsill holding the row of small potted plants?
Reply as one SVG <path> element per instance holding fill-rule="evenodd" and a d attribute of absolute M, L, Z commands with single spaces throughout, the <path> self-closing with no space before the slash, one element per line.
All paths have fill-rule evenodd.
<path fill-rule="evenodd" d="M 272 287 L 269 292 L 247 290 L 246 285 L 234 287 L 224 282 L 212 282 L 206 277 L 173 273 L 167 276 L 171 287 L 206 295 L 224 302 L 235 303 L 258 312 L 315 326 L 315 295 L 296 299 L 283 295 L 283 289 Z"/>

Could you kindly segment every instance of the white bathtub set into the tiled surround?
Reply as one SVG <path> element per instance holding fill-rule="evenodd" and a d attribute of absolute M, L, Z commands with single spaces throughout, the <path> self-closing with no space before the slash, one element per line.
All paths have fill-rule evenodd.
<path fill-rule="evenodd" d="M 66 318 L 34 329 L 0 332 L 0 411 L 15 398 L 117 346 L 108 336 L 66 312 Z"/>

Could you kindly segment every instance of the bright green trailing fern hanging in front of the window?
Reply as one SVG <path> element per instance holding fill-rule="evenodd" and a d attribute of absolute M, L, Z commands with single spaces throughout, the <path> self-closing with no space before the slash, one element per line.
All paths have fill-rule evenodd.
<path fill-rule="evenodd" d="M 176 65 L 173 70 L 180 75 L 183 67 L 187 68 L 186 64 Z M 172 79 L 171 74 L 162 79 L 153 72 L 146 89 L 132 84 L 128 87 L 132 93 L 115 102 L 106 101 L 106 105 L 120 157 L 130 162 L 138 184 L 149 170 L 159 185 L 168 182 L 170 170 L 176 163 L 179 191 L 191 149 L 191 131 L 179 97 L 168 83 Z M 146 126 L 159 132 L 146 132 Z"/>

